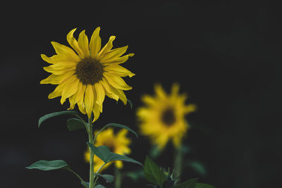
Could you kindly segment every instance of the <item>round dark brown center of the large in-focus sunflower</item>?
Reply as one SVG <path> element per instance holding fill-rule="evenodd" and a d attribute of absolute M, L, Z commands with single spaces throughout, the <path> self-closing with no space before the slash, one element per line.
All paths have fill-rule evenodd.
<path fill-rule="evenodd" d="M 87 57 L 78 62 L 75 74 L 82 84 L 94 84 L 102 80 L 104 66 L 94 58 Z"/>

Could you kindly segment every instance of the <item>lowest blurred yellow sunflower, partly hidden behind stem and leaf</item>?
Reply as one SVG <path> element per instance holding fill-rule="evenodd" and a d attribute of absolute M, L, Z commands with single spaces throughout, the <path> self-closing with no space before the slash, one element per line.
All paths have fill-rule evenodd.
<path fill-rule="evenodd" d="M 110 151 L 113 153 L 118 153 L 121 155 L 129 154 L 131 152 L 130 148 L 128 147 L 131 143 L 131 140 L 126 137 L 126 134 L 128 133 L 128 130 L 120 130 L 116 134 L 114 134 L 113 128 L 108 128 L 102 132 L 99 133 L 99 136 L 96 139 L 95 146 L 108 146 Z M 97 134 L 97 131 L 95 132 Z M 87 147 L 87 151 L 85 151 L 85 161 L 88 163 L 90 162 L 90 151 Z M 104 162 L 98 158 L 97 156 L 94 156 L 94 172 L 97 172 L 97 170 L 104 164 Z M 111 163 L 107 163 L 104 165 L 102 170 L 106 169 L 111 165 Z M 123 168 L 123 162 L 122 161 L 114 161 L 116 163 L 116 168 Z"/>

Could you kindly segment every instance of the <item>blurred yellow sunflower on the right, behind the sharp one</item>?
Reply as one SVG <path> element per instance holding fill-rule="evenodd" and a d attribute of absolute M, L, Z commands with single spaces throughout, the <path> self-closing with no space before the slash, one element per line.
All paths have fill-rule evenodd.
<path fill-rule="evenodd" d="M 178 94 L 179 84 L 173 84 L 171 94 L 166 94 L 160 84 L 154 89 L 156 96 L 142 96 L 145 106 L 137 109 L 140 132 L 149 136 L 159 149 L 163 149 L 169 140 L 178 147 L 189 128 L 185 115 L 195 111 L 196 106 L 185 105 L 187 95 Z"/>

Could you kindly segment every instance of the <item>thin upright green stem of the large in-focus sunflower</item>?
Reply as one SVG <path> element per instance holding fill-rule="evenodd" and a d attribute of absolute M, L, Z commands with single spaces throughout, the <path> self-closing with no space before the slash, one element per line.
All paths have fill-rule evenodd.
<path fill-rule="evenodd" d="M 88 118 L 88 125 L 89 125 L 89 132 L 88 133 L 88 138 L 89 142 L 91 144 L 94 144 L 94 139 L 93 139 L 93 125 L 92 125 L 92 116 Z M 90 150 L 90 177 L 89 177 L 89 188 L 94 188 L 94 153 Z"/>

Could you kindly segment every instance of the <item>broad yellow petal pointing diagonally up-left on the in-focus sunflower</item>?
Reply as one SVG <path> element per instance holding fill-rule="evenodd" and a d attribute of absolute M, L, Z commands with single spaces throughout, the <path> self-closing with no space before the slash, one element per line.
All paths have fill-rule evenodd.
<path fill-rule="evenodd" d="M 73 49 L 69 48 L 68 46 L 59 44 L 58 42 L 51 42 L 51 44 L 53 45 L 56 54 L 58 54 L 59 56 L 62 56 L 63 58 L 68 59 L 69 61 L 80 61 L 80 58 L 78 57 L 78 55 L 75 54 L 75 51 L 73 51 Z"/>

